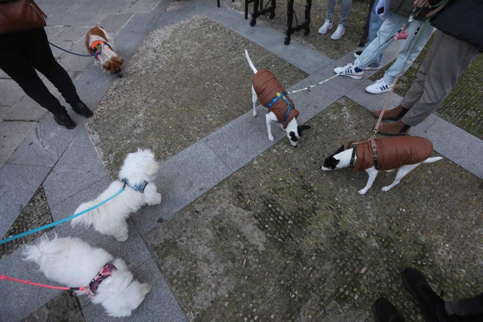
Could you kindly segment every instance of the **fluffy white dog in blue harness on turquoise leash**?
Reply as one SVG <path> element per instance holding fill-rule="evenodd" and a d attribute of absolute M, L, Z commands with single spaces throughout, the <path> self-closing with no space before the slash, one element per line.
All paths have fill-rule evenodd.
<path fill-rule="evenodd" d="M 150 150 L 138 149 L 138 152 L 129 153 L 119 171 L 119 180 L 112 182 L 96 199 L 80 205 L 74 213 L 87 210 L 114 196 L 125 185 L 122 180 L 127 179 L 124 191 L 99 207 L 72 219 L 72 227 L 76 224 L 93 225 L 99 233 L 125 241 L 128 239 L 126 220 L 129 214 L 144 205 L 161 203 L 161 194 L 156 192 L 156 184 L 153 182 L 158 171 L 159 164 Z"/>

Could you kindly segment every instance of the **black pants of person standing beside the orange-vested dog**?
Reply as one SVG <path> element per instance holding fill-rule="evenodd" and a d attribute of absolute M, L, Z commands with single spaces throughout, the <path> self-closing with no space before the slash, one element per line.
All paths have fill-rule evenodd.
<path fill-rule="evenodd" d="M 43 28 L 0 35 L 0 69 L 9 75 L 24 92 L 53 114 L 66 112 L 35 70 L 54 84 L 71 105 L 80 99 L 66 70 L 57 63 Z"/>

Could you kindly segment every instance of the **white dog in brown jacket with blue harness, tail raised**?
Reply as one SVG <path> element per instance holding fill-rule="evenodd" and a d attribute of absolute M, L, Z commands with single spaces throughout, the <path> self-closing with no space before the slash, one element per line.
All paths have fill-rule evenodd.
<path fill-rule="evenodd" d="M 290 144 L 297 147 L 297 141 L 300 139 L 302 131 L 311 128 L 311 126 L 298 126 L 298 111 L 295 109 L 292 100 L 285 94 L 284 88 L 280 85 L 275 75 L 270 70 L 256 70 L 246 49 L 245 56 L 248 64 L 250 64 L 250 67 L 255 73 L 252 85 L 253 116 L 256 116 L 255 104 L 258 98 L 260 103 L 268 108 L 268 113 L 265 115 L 265 118 L 267 120 L 269 140 L 273 141 L 270 122 L 276 121 L 277 123 L 281 123 L 282 129 L 287 132 Z"/>

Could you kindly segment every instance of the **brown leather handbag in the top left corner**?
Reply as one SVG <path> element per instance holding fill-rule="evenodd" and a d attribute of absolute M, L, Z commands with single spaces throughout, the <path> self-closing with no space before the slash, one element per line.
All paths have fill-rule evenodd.
<path fill-rule="evenodd" d="M 46 18 L 33 0 L 0 0 L 0 34 L 45 27 Z"/>

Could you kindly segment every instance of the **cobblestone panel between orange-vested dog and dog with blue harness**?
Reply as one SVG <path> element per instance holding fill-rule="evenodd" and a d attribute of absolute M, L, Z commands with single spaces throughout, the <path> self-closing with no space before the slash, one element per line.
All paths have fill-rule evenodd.
<path fill-rule="evenodd" d="M 163 161 L 250 109 L 245 48 L 285 87 L 308 76 L 206 16 L 152 31 L 85 125 L 111 176 L 139 146 Z"/>

